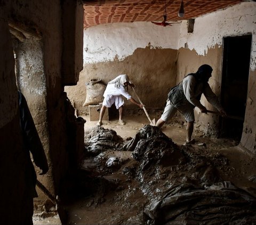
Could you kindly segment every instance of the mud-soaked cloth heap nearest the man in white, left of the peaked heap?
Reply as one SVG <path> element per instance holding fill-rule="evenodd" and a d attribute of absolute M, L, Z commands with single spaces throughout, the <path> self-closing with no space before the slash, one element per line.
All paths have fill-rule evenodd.
<path fill-rule="evenodd" d="M 122 151 L 123 139 L 116 134 L 115 130 L 105 129 L 100 126 L 95 126 L 86 134 L 85 149 L 90 155 L 97 156 L 102 152 Z"/>

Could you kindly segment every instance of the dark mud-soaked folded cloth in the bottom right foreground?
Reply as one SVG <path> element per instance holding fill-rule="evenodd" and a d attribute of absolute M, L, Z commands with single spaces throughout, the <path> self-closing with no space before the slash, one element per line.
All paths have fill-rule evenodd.
<path fill-rule="evenodd" d="M 256 224 L 256 198 L 229 181 L 208 188 L 181 184 L 145 213 L 148 224 Z"/>

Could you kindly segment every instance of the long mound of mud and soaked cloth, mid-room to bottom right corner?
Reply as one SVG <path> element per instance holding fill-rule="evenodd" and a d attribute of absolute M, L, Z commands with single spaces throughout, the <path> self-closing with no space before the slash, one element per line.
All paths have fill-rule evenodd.
<path fill-rule="evenodd" d="M 205 145 L 179 146 L 150 125 L 141 128 L 131 140 L 123 140 L 115 131 L 102 127 L 95 127 L 86 137 L 87 154 L 94 156 L 92 161 L 102 177 L 108 174 L 127 177 L 118 179 L 119 188 L 114 190 L 119 200 L 125 199 L 118 205 L 119 210 L 126 211 L 127 205 L 134 208 L 134 199 L 129 202 L 127 193 L 144 196 L 143 202 L 136 203 L 143 205 L 138 207 L 140 212 L 118 224 L 253 224 L 256 221 L 255 190 L 236 187 L 223 179 L 223 174 L 227 177 L 232 173 L 228 160 Z M 126 151 L 126 159 L 122 160 L 116 151 Z M 129 188 L 125 190 L 126 187 Z M 109 199 L 110 205 L 115 198 Z"/>

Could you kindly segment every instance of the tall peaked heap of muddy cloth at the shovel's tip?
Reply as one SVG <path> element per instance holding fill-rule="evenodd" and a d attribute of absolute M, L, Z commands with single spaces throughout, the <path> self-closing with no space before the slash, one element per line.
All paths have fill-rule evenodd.
<path fill-rule="evenodd" d="M 153 164 L 170 166 L 185 163 L 185 157 L 179 146 L 158 127 L 148 124 L 124 145 L 124 149 L 132 151 L 132 157 L 141 162 L 143 169 Z"/>

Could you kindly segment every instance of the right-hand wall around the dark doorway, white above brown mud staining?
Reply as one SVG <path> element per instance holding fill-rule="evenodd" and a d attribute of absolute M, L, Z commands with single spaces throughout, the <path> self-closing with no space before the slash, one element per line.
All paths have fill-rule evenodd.
<path fill-rule="evenodd" d="M 247 92 L 247 105 L 245 112 L 244 129 L 241 145 L 253 154 L 256 153 L 255 139 L 255 70 L 256 70 L 256 3 L 244 2 L 226 10 L 207 14 L 195 20 L 194 32 L 187 33 L 186 21 L 181 24 L 179 39 L 179 59 L 177 78 L 182 79 L 190 71 L 196 71 L 204 63 L 213 67 L 210 85 L 218 95 L 220 93 L 220 74 L 222 64 L 223 37 L 252 35 L 252 48 L 249 71 L 249 85 Z M 209 24 L 211 24 L 209 26 Z M 186 49 L 184 49 L 186 46 Z M 202 103 L 208 107 L 205 99 Z M 217 131 L 215 128 L 218 118 L 209 120 L 209 116 L 202 115 L 195 110 L 197 119 L 202 124 L 201 128 L 209 133 Z M 208 126 L 210 124 L 210 126 Z M 210 127 L 210 130 L 209 130 Z"/>

